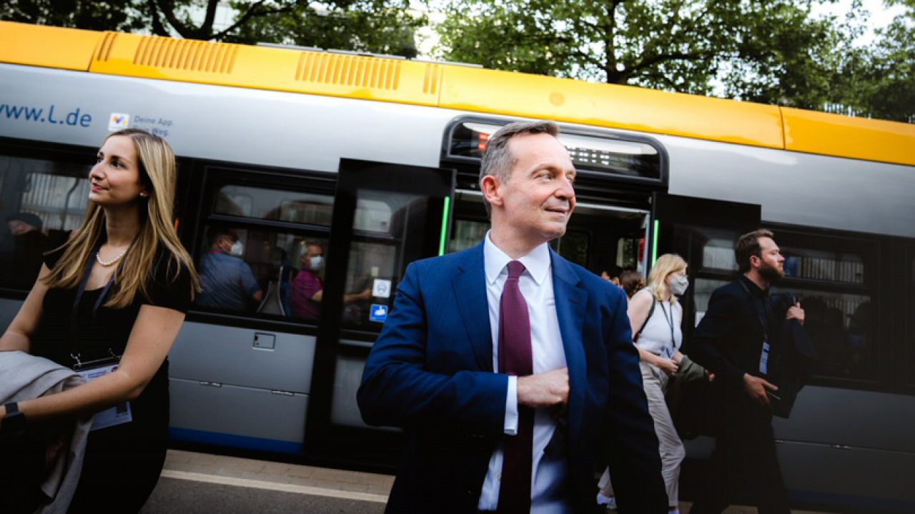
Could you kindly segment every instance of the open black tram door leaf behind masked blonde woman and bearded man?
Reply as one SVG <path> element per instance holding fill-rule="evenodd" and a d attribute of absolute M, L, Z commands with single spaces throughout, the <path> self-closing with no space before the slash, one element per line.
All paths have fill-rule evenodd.
<path fill-rule="evenodd" d="M 708 308 L 716 288 L 734 279 L 734 245 L 740 234 L 759 229 L 756 204 L 654 193 L 651 197 L 650 262 L 679 253 L 689 264 L 690 287 L 684 302 L 684 337 Z"/>

